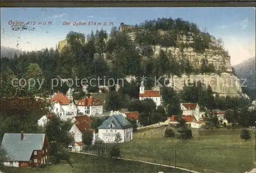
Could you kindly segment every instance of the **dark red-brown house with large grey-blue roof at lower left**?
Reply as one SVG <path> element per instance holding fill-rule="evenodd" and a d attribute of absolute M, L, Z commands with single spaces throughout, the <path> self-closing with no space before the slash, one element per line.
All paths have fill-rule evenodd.
<path fill-rule="evenodd" d="M 45 134 L 4 135 L 2 145 L 9 156 L 5 166 L 32 167 L 45 164 L 49 156 L 49 143 Z"/>

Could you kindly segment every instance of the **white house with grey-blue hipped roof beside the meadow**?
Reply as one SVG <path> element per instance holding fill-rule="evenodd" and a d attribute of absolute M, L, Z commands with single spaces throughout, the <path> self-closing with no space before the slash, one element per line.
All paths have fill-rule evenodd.
<path fill-rule="evenodd" d="M 105 143 L 114 142 L 117 135 L 120 135 L 121 142 L 133 139 L 133 125 L 126 119 L 126 115 L 120 112 L 111 111 L 111 116 L 98 129 L 98 137 Z"/>

